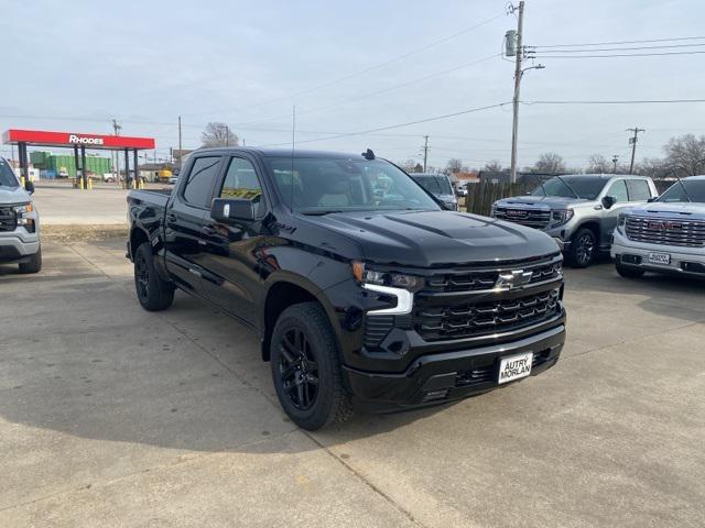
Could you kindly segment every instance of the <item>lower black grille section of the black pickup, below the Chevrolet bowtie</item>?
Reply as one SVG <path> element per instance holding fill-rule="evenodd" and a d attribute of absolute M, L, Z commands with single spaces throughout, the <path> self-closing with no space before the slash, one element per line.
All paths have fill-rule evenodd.
<path fill-rule="evenodd" d="M 519 330 L 560 314 L 560 289 L 509 299 L 420 307 L 414 329 L 426 341 L 463 339 Z"/>

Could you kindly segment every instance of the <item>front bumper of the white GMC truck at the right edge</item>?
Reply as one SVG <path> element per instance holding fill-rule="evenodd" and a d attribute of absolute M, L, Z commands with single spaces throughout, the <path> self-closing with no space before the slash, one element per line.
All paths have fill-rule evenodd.
<path fill-rule="evenodd" d="M 610 255 L 620 264 L 637 270 L 705 277 L 705 250 L 684 250 L 686 249 L 680 246 L 634 242 L 615 231 Z M 649 253 L 668 253 L 671 255 L 671 263 L 650 263 Z"/>

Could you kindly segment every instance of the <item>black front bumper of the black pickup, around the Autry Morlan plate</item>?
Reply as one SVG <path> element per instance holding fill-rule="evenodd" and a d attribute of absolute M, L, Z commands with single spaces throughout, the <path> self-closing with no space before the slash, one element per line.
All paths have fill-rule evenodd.
<path fill-rule="evenodd" d="M 561 323 L 513 342 L 423 355 L 399 374 L 364 372 L 344 366 L 354 398 L 371 410 L 421 407 L 465 398 L 497 388 L 500 359 L 533 352 L 531 375 L 555 365 L 565 342 Z"/>

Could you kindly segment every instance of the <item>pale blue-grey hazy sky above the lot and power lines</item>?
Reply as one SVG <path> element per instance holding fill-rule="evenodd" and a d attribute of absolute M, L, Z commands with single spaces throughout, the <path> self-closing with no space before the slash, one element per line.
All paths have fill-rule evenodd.
<path fill-rule="evenodd" d="M 185 147 L 199 145 L 208 121 L 268 145 L 291 141 L 295 105 L 302 148 L 371 147 L 402 161 L 420 158 L 427 134 L 430 165 L 509 164 L 511 105 L 311 141 L 511 101 L 513 63 L 500 52 L 517 20 L 503 0 L 2 4 L 3 131 L 110 133 L 117 118 L 126 135 L 155 136 L 163 157 L 180 114 Z M 703 36 L 704 20 L 702 0 L 527 0 L 524 44 Z M 664 44 L 694 43 L 705 40 Z M 662 51 L 696 50 L 705 46 Z M 538 62 L 546 67 L 524 75 L 524 101 L 705 97 L 705 54 Z M 659 156 L 670 136 L 705 133 L 703 118 L 705 103 L 523 105 L 519 161 L 547 151 L 578 167 L 594 153 L 628 161 L 625 129 L 636 125 L 647 129 L 637 157 Z"/>

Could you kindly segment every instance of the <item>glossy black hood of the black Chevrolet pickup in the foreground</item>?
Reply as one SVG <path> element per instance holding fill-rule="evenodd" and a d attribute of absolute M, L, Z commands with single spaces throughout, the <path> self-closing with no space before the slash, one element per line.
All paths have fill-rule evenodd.
<path fill-rule="evenodd" d="M 462 212 L 360 211 L 305 218 L 357 241 L 365 258 L 379 264 L 456 266 L 558 251 L 541 231 Z"/>

